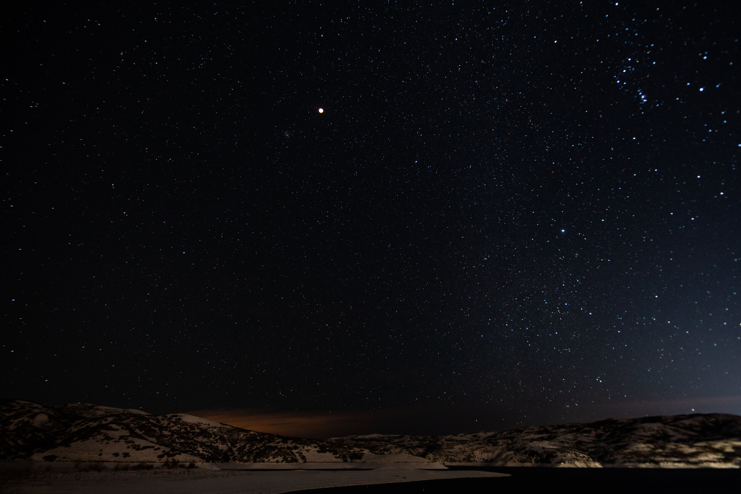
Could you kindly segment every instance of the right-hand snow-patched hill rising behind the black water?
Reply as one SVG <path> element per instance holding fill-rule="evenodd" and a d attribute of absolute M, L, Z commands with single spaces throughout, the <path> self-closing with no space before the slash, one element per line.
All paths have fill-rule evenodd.
<path fill-rule="evenodd" d="M 608 419 L 499 433 L 354 435 L 334 444 L 408 453 L 445 464 L 544 467 L 741 467 L 741 416 Z"/>

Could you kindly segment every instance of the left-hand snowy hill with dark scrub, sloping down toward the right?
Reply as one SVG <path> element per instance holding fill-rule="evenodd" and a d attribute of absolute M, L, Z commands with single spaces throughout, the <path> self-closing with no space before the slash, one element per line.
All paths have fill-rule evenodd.
<path fill-rule="evenodd" d="M 193 415 L 0 401 L 0 459 L 47 461 L 304 462 L 388 460 L 326 441 L 256 433 Z M 403 455 L 397 461 L 425 462 Z"/>

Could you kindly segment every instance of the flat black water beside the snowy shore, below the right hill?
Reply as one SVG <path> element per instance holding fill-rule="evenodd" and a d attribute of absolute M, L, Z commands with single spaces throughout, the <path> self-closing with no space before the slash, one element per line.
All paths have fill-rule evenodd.
<path fill-rule="evenodd" d="M 485 470 L 509 473 L 511 477 L 450 478 L 400 484 L 328 487 L 299 492 L 302 494 L 741 493 L 741 470 L 737 469 L 502 467 Z"/>

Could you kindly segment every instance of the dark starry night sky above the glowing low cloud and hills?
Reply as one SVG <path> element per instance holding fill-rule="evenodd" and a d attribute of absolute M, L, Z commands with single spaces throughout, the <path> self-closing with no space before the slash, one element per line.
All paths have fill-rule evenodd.
<path fill-rule="evenodd" d="M 740 396 L 734 4 L 19 4 L 0 395 Z"/>

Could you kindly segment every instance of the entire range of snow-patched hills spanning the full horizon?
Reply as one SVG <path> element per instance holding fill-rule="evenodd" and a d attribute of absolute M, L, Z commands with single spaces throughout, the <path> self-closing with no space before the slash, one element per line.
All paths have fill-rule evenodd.
<path fill-rule="evenodd" d="M 256 433 L 194 415 L 0 400 L 0 459 L 740 468 L 741 417 L 711 413 L 612 418 L 498 433 L 372 434 L 317 441 Z"/>

